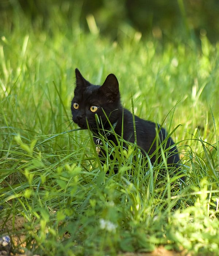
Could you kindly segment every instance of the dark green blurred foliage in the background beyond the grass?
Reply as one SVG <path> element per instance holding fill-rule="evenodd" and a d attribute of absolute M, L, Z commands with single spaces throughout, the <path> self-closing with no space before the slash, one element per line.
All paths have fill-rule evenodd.
<path fill-rule="evenodd" d="M 1 0 L 0 15 L 22 9 L 32 22 L 40 17 L 47 27 L 54 7 L 61 9 L 67 25 L 77 21 L 85 31 L 92 14 L 100 33 L 112 40 L 127 27 L 160 40 L 199 41 L 200 34 L 207 34 L 211 42 L 219 40 L 218 0 Z"/>

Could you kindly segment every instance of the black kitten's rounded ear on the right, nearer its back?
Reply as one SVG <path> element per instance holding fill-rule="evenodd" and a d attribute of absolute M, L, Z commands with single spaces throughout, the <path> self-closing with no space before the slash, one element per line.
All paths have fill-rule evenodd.
<path fill-rule="evenodd" d="M 114 102 L 119 96 L 119 82 L 114 74 L 110 74 L 100 87 L 100 91 L 105 94 L 111 102 Z"/>

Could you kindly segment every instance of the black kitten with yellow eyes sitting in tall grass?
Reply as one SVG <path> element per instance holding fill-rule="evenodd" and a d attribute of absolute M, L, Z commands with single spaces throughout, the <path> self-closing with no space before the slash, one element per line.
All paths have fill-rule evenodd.
<path fill-rule="evenodd" d="M 71 105 L 72 119 L 82 129 L 88 129 L 88 123 L 96 145 L 101 145 L 101 138 L 103 138 L 104 134 L 108 140 L 112 140 L 117 144 L 114 133 L 108 132 L 112 131 L 113 127 L 119 138 L 122 137 L 123 132 L 123 139 L 126 141 L 134 143 L 136 136 L 138 147 L 143 154 L 147 153 L 150 156 L 151 163 L 154 163 L 157 157 L 156 154 L 153 154 L 156 145 L 158 145 L 155 140 L 157 128 L 159 131 L 159 144 L 166 139 L 162 146 L 164 150 L 166 149 L 165 152 L 168 151 L 168 166 L 179 167 L 180 158 L 177 148 L 172 138 L 167 138 L 164 128 L 138 116 L 134 116 L 134 128 L 132 113 L 123 108 L 120 102 L 119 83 L 114 74 L 108 75 L 103 85 L 100 86 L 92 85 L 88 82 L 82 77 L 77 68 L 75 73 L 76 88 L 74 89 L 74 98 Z M 98 125 L 97 119 L 99 120 Z M 134 131 L 136 131 L 136 135 Z M 152 154 L 153 156 L 151 156 Z"/>

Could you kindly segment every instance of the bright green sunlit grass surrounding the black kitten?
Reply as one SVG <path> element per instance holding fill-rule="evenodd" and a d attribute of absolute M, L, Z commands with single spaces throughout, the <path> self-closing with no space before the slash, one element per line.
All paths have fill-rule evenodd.
<path fill-rule="evenodd" d="M 3 232 L 25 234 L 26 249 L 39 255 L 116 255 L 160 245 L 217 255 L 219 45 L 203 36 L 200 47 L 189 38 L 162 46 L 128 27 L 112 42 L 51 13 L 44 30 L 40 19 L 30 25 L 18 11 L 0 31 Z M 180 190 L 176 178 L 156 179 L 160 166 L 136 161 L 137 148 L 106 143 L 117 159 L 100 164 L 89 132 L 71 121 L 76 67 L 95 84 L 114 73 L 126 108 L 174 131 L 188 166 Z M 16 216 L 25 219 L 22 230 L 5 225 Z"/>

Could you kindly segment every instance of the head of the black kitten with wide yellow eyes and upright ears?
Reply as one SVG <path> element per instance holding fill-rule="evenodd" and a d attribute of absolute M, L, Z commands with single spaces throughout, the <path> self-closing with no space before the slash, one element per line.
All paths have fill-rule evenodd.
<path fill-rule="evenodd" d="M 76 88 L 72 100 L 72 120 L 82 129 L 97 129 L 97 118 L 104 129 L 118 121 L 122 106 L 120 103 L 119 83 L 114 74 L 105 79 L 102 86 L 87 81 L 76 68 Z M 96 116 L 96 117 L 95 117 Z M 107 116 L 107 117 L 106 117 Z M 99 125 L 101 128 L 102 125 Z"/>

